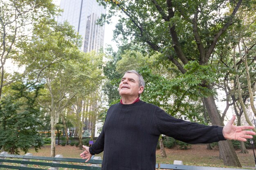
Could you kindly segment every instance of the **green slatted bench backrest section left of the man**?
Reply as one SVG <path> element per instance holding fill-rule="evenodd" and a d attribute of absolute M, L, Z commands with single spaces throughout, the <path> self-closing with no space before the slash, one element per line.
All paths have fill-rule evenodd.
<path fill-rule="evenodd" d="M 88 166 L 88 164 L 85 163 L 85 159 L 62 158 L 62 155 L 56 155 L 56 157 L 37 157 L 37 156 L 29 156 L 29 154 L 10 155 L 6 153 L 7 152 L 2 152 L 0 154 L 0 169 L 8 168 L 8 169 L 18 169 L 18 170 L 45 170 L 45 169 L 36 168 L 36 167 L 27 167 L 27 165 L 36 165 L 36 166 L 47 166 L 46 169 L 49 169 L 49 167 L 51 167 L 50 168 L 51 170 L 58 170 L 59 167 L 81 169 L 81 170 L 101 170 L 101 167 L 99 166 L 97 167 L 95 165 L 96 164 L 99 165 L 102 163 L 101 160 L 91 159 L 87 163 L 92 164 L 92 166 Z M 6 159 L 6 158 L 9 158 L 9 159 Z M 32 159 L 33 161 L 29 161 L 30 159 Z M 52 162 L 50 163 L 50 162 L 42 162 L 42 161 L 34 161 L 34 160 L 52 161 Z M 71 164 L 71 162 L 84 163 L 85 165 L 73 165 Z"/>

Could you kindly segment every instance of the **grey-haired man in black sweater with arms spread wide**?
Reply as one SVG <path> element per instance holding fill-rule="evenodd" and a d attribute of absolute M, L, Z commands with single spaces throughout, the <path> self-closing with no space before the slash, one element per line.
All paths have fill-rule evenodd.
<path fill-rule="evenodd" d="M 225 139 L 246 141 L 253 126 L 234 126 L 235 117 L 224 127 L 205 126 L 171 117 L 159 107 L 139 100 L 144 79 L 137 71 L 127 71 L 119 84 L 121 101 L 110 106 L 97 141 L 80 154 L 89 161 L 104 150 L 102 170 L 155 170 L 155 150 L 164 134 L 190 144 Z"/>

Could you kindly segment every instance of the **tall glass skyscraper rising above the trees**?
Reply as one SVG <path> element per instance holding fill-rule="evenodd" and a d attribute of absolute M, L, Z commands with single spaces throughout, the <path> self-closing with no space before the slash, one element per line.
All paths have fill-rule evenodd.
<path fill-rule="evenodd" d="M 96 0 L 61 0 L 60 8 L 63 9 L 58 22 L 67 21 L 83 38 L 81 50 L 90 52 L 99 51 L 104 43 L 105 26 L 97 25 L 97 19 L 106 13 L 104 7 L 99 6 Z"/>

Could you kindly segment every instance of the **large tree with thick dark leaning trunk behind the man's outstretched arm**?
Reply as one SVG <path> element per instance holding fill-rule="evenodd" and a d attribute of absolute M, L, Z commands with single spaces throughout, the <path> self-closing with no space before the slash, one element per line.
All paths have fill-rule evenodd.
<path fill-rule="evenodd" d="M 110 5 L 110 15 L 121 10 L 116 37 L 131 36 L 138 43 L 147 45 L 148 51 L 158 51 L 185 74 L 189 61 L 198 62 L 199 67 L 210 65 L 218 42 L 224 40 L 225 31 L 236 22 L 234 18 L 242 0 L 183 2 L 172 0 L 101 0 Z M 247 1 L 242 7 L 253 1 Z M 229 11 L 224 10 L 229 7 Z M 110 15 L 105 18 L 109 18 Z M 194 72 L 195 74 L 197 72 Z M 212 82 L 201 79 L 197 86 L 213 91 Z M 211 93 L 213 94 L 213 93 Z M 202 94 L 200 94 L 202 95 Z M 212 124 L 223 126 L 213 95 L 202 98 Z M 230 141 L 220 141 L 220 155 L 225 165 L 241 167 Z"/>

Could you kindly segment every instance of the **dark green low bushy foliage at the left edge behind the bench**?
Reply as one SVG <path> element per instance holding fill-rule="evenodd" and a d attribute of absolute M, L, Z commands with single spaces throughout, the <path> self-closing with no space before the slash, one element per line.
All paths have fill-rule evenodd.
<path fill-rule="evenodd" d="M 42 125 L 40 108 L 36 103 L 40 84 L 16 82 L 0 101 L 0 146 L 11 154 L 27 152 L 31 146 L 43 146 L 43 139 L 38 134 Z"/>

